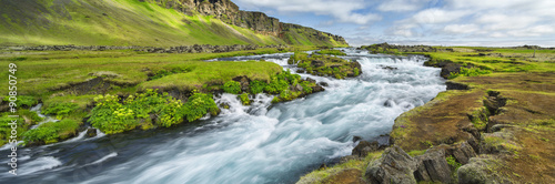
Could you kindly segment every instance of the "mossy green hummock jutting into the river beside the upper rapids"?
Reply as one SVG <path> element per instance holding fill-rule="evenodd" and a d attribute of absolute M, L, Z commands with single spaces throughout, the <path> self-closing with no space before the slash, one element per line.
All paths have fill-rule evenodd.
<path fill-rule="evenodd" d="M 341 51 L 340 51 L 341 52 Z M 336 79 L 344 79 L 347 76 L 357 76 L 361 73 L 361 65 L 357 62 L 350 62 L 341 58 L 331 55 L 309 54 L 303 52 L 295 52 L 294 55 L 287 60 L 289 64 L 297 64 L 306 72 L 316 75 L 329 75 Z"/>

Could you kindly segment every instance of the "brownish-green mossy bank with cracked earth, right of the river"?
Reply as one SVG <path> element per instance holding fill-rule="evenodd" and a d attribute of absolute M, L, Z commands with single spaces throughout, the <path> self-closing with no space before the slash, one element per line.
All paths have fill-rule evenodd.
<path fill-rule="evenodd" d="M 396 49 L 366 48 L 396 52 Z M 552 143 L 555 139 L 555 50 L 435 49 L 437 51 L 402 54 L 427 55 L 430 65 L 456 63 L 462 70 L 447 73 L 448 78 L 467 90 L 442 92 L 425 105 L 400 115 L 391 132 L 392 142 L 408 154 L 417 155 L 441 144 L 460 145 L 476 139 L 478 145 L 474 151 L 478 156 L 468 166 L 463 165 L 460 174 L 483 173 L 481 180 L 486 183 L 555 182 Z M 367 181 L 360 171 L 372 161 L 365 157 L 351 162 L 359 164 L 313 171 L 299 183 Z M 447 162 L 458 164 L 460 161 L 450 157 Z M 454 182 L 457 182 L 460 166 L 455 168 Z"/>

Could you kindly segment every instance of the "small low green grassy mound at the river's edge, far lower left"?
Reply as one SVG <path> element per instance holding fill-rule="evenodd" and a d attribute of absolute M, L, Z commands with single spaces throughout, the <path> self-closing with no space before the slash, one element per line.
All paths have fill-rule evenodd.
<path fill-rule="evenodd" d="M 81 122 L 74 120 L 62 120 L 59 122 L 48 122 L 39 127 L 27 131 L 24 136 L 26 144 L 50 144 L 67 140 L 78 133 Z"/>

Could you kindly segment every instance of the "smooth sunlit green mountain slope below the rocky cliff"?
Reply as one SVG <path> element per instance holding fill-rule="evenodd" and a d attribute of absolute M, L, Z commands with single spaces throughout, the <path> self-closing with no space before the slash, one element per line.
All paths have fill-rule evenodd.
<path fill-rule="evenodd" d="M 206 7 L 221 3 L 218 0 L 211 1 L 0 0 L 0 44 L 170 47 L 287 43 L 339 45 L 334 44 L 335 40 L 322 39 L 322 37 L 304 42 L 282 39 L 291 37 L 284 37 L 286 33 L 281 31 L 283 23 L 279 21 L 276 21 L 278 27 L 274 28 L 274 32 L 261 31 L 260 28 L 253 27 L 256 22 L 260 24 L 260 16 L 244 17 L 241 20 L 245 24 L 233 23 L 221 14 L 210 14 L 211 11 Z M 234 6 L 231 1 L 225 2 Z M 234 8 L 230 8 L 233 9 L 230 12 L 263 14 L 239 11 L 236 6 Z M 219 10 L 222 11 L 222 9 Z M 330 35 L 325 34 L 327 38 L 333 38 Z"/>

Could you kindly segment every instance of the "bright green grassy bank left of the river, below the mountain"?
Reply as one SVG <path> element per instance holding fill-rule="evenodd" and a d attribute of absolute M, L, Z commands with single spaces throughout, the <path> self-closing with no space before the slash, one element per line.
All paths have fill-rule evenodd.
<path fill-rule="evenodd" d="M 0 53 L 0 63 L 14 63 L 18 67 L 17 104 L 20 110 L 18 113 L 21 113 L 18 136 L 26 137 L 28 143 L 48 144 L 75 135 L 83 123 L 91 123 L 105 133 L 120 133 L 193 122 L 206 113 L 215 115 L 219 110 L 211 93 L 225 90 L 224 84 L 235 76 L 259 81 L 258 86 L 253 88 L 261 90 L 249 90 L 244 93 L 279 94 L 276 102 L 294 99 L 292 94 L 296 98 L 312 93 L 309 91 L 312 83 L 309 84 L 299 78 L 281 76 L 283 69 L 273 62 L 203 61 L 311 49 L 315 48 L 259 49 L 226 53 L 144 53 L 131 50 L 4 51 Z M 9 71 L 1 74 L 8 75 Z M 280 82 L 283 79 L 290 80 Z M 8 83 L 8 78 L 0 82 Z M 272 89 L 273 83 L 284 85 Z M 287 90 L 290 85 L 297 83 L 306 91 Z M 0 93 L 7 95 L 8 89 L 0 90 Z M 241 99 L 245 98 L 249 95 L 242 95 Z M 2 99 L 0 109 L 7 111 L 8 99 Z M 112 101 L 104 103 L 107 99 Z M 27 130 L 40 119 L 36 117 L 34 112 L 26 109 L 39 102 L 43 103 L 42 113 L 64 120 L 63 123 L 47 123 L 28 132 Z M 189 104 L 193 102 L 194 105 Z M 119 114 L 114 116 L 112 112 Z M 9 113 L 2 114 L 2 120 L 8 121 L 7 115 Z M 85 116 L 90 117 L 88 122 L 83 122 Z M 104 124 L 105 122 L 117 123 Z M 2 126 L 0 131 L 9 132 L 10 129 Z M 2 144 L 7 142 L 4 136 L 1 140 Z"/>

